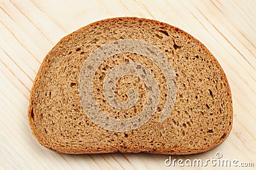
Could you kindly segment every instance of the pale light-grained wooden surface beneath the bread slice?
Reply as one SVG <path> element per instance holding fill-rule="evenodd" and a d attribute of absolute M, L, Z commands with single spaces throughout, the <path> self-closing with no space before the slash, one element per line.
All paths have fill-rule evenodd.
<path fill-rule="evenodd" d="M 221 152 L 223 159 L 253 162 L 247 169 L 256 168 L 256 1 L 1 0 L 0 8 L 0 169 L 186 169 L 165 166 L 169 155 L 60 154 L 31 134 L 29 91 L 47 52 L 84 25 L 124 16 L 189 32 L 212 52 L 230 83 L 234 125 L 227 140 L 209 152 L 172 159 L 206 160 Z"/>

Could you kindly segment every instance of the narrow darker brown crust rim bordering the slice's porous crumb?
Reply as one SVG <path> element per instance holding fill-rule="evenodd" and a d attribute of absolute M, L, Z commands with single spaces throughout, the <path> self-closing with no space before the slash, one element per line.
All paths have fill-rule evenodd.
<path fill-rule="evenodd" d="M 96 23 L 99 23 L 99 22 L 108 22 L 108 21 L 112 21 L 112 20 L 118 20 L 118 19 L 130 19 L 130 20 L 143 20 L 145 22 L 152 22 L 154 24 L 161 24 L 161 25 L 164 25 L 165 27 L 170 27 L 172 29 L 179 29 L 178 27 L 174 27 L 172 25 L 169 25 L 169 24 L 166 24 L 164 22 L 159 22 L 159 21 L 156 21 L 156 20 L 150 20 L 150 19 L 145 19 L 145 18 L 137 18 L 137 17 L 117 17 L 117 18 L 108 18 L 108 19 L 105 19 L 105 20 L 100 20 L 100 21 L 97 21 L 97 22 L 93 22 L 92 24 L 89 24 L 89 25 L 86 25 L 84 27 L 82 27 L 81 29 L 78 29 L 77 31 L 74 31 L 70 34 L 68 34 L 67 36 L 65 36 L 64 38 L 61 38 L 61 40 L 52 48 L 58 48 L 58 46 L 62 43 L 62 42 L 65 42 L 67 41 L 68 39 L 70 39 L 74 34 L 79 34 L 79 32 L 83 32 L 84 29 L 86 29 L 87 27 L 90 27 L 92 25 L 95 25 Z M 214 64 L 218 67 L 218 69 L 221 70 L 221 77 L 223 78 L 223 80 L 225 80 L 225 83 L 226 83 L 226 88 L 228 90 L 228 94 L 230 94 L 230 103 L 231 103 L 231 113 L 230 113 L 230 117 L 231 117 L 231 124 L 229 125 L 228 127 L 228 130 L 227 130 L 227 135 L 225 136 L 225 138 L 222 138 L 220 139 L 220 141 L 218 141 L 217 143 L 215 143 L 215 145 L 212 145 L 208 148 L 202 148 L 201 150 L 190 150 L 190 152 L 188 150 L 180 150 L 180 151 L 174 151 L 174 152 L 149 152 L 149 153 L 158 153 L 158 154 L 171 154 L 171 155 L 189 155 L 189 154 L 194 154 L 194 153 L 202 153 L 202 152 L 207 152 L 208 150 L 211 150 L 212 148 L 215 148 L 216 146 L 220 145 L 221 143 L 223 143 L 223 141 L 225 141 L 225 139 L 227 139 L 228 135 L 230 134 L 230 131 L 232 129 L 232 124 L 233 124 L 233 104 L 232 104 L 232 94 L 231 94 L 231 90 L 230 90 L 230 86 L 228 84 L 228 80 L 227 80 L 227 76 L 225 74 L 225 72 L 223 71 L 222 67 L 220 66 L 218 60 L 212 55 L 211 52 L 209 52 L 209 50 L 196 38 L 194 38 L 193 36 L 191 36 L 190 34 L 188 34 L 188 32 L 185 32 L 181 29 L 179 29 L 180 32 L 182 32 L 184 34 L 184 36 L 188 36 L 190 37 L 191 39 L 193 39 L 196 43 L 198 43 L 198 45 L 201 46 L 201 48 L 204 48 L 204 50 L 206 52 L 208 52 L 208 55 L 209 57 L 211 57 L 212 61 L 214 62 Z M 38 70 L 38 73 L 36 74 L 36 77 L 35 77 L 35 80 L 34 80 L 34 83 L 33 83 L 33 87 L 31 88 L 31 93 L 30 93 L 30 97 L 29 97 L 29 108 L 28 108 L 28 118 L 29 118 L 29 125 L 31 127 L 31 130 L 32 130 L 32 133 L 33 135 L 36 137 L 36 139 L 38 139 L 39 143 L 42 145 L 42 146 L 45 146 L 46 148 L 49 148 L 51 150 L 54 150 L 56 152 L 60 152 L 60 153 L 68 153 L 68 154 L 83 154 L 83 153 L 115 153 L 115 152 L 120 152 L 119 150 L 115 150 L 113 148 L 113 150 L 104 150 L 104 151 L 97 151 L 97 150 L 94 150 L 94 151 L 91 151 L 91 152 L 88 152 L 85 151 L 85 150 L 61 150 L 60 148 L 58 148 L 58 150 L 55 150 L 54 148 L 51 148 L 51 146 L 48 146 L 46 143 L 44 143 L 44 141 L 40 141 L 40 138 L 39 136 L 36 135 L 36 130 L 33 129 L 33 122 L 31 120 L 31 114 L 33 113 L 33 96 L 35 96 L 35 85 L 37 83 L 37 81 L 40 79 L 40 74 L 42 73 L 42 69 L 44 68 L 45 64 L 47 64 L 47 60 L 48 60 L 48 56 L 51 55 L 52 53 L 52 50 L 47 53 L 46 57 L 44 58 L 39 70 Z M 126 152 L 124 153 L 139 153 L 140 151 L 134 151 L 134 150 L 126 150 Z"/>

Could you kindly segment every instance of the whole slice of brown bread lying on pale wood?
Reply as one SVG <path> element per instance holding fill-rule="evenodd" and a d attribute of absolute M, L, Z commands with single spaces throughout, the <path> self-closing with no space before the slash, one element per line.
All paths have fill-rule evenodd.
<path fill-rule="evenodd" d="M 227 138 L 233 111 L 225 73 L 200 41 L 124 17 L 87 25 L 52 48 L 28 118 L 36 139 L 62 153 L 191 154 Z"/>

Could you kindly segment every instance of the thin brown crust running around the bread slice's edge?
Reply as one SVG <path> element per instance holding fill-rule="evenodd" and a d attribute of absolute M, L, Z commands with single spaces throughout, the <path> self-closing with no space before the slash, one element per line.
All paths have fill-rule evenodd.
<path fill-rule="evenodd" d="M 221 79 L 223 79 L 223 81 L 225 81 L 226 84 L 226 89 L 227 89 L 227 93 L 229 95 L 229 99 L 230 101 L 227 101 L 228 103 L 231 104 L 232 106 L 232 95 L 231 95 L 231 90 L 230 87 L 228 85 L 228 80 L 227 77 L 223 71 L 223 69 L 221 68 L 220 64 L 218 63 L 218 61 L 216 60 L 216 58 L 209 52 L 209 50 L 198 40 L 193 38 L 193 36 L 191 36 L 190 34 L 188 34 L 185 31 L 182 31 L 181 29 L 177 28 L 177 27 L 173 27 L 172 25 L 169 24 L 165 24 L 163 22 L 158 22 L 156 20 L 148 20 L 145 18 L 136 18 L 136 17 L 118 17 L 118 18 L 108 18 L 105 20 L 100 20 L 97 22 L 93 22 L 92 24 L 86 25 L 85 27 L 82 27 L 81 29 L 78 29 L 77 31 L 72 32 L 71 34 L 68 34 L 67 36 L 65 36 L 64 38 L 62 38 L 53 48 L 52 50 L 47 53 L 46 57 L 44 58 L 42 65 L 40 66 L 38 73 L 36 74 L 35 77 L 35 81 L 33 83 L 33 87 L 31 88 L 31 94 L 29 97 L 29 108 L 28 108 L 28 118 L 29 118 L 29 125 L 31 127 L 31 130 L 33 132 L 33 135 L 36 137 L 36 139 L 38 139 L 38 141 L 40 142 L 40 144 L 42 146 L 45 146 L 51 150 L 54 150 L 56 152 L 60 152 L 60 153 L 70 153 L 70 154 L 81 154 L 81 153 L 114 153 L 114 152 L 132 152 L 132 153 L 138 153 L 138 152 L 150 152 L 150 153 L 159 153 L 159 154 L 172 154 L 172 155 L 187 155 L 187 154 L 193 154 L 193 153 L 201 153 L 201 152 L 206 152 L 208 150 L 211 150 L 212 148 L 220 145 L 221 143 L 223 143 L 223 141 L 225 141 L 225 139 L 227 138 L 228 134 L 230 133 L 231 129 L 232 129 L 232 120 L 233 120 L 233 108 L 231 107 L 230 109 L 230 113 L 229 113 L 229 117 L 231 120 L 231 124 L 228 125 L 227 128 L 227 135 L 225 135 L 223 138 L 221 138 L 219 141 L 216 141 L 216 143 L 213 143 L 211 146 L 205 146 L 202 148 L 191 148 L 191 150 L 173 150 L 172 152 L 170 152 L 170 150 L 151 150 L 150 148 L 136 148 L 136 150 L 132 150 L 132 149 L 122 149 L 122 148 L 101 148 L 100 150 L 98 150 L 97 148 L 90 148 L 90 149 L 84 149 L 84 148 L 63 148 L 63 147 L 52 147 L 51 145 L 49 145 L 47 143 L 47 141 L 42 140 L 42 138 L 40 138 L 40 133 L 37 131 L 35 124 L 34 124 L 34 120 L 33 117 L 35 117 L 33 112 L 33 107 L 34 107 L 34 98 L 36 97 L 36 93 L 37 90 L 36 89 L 36 84 L 40 83 L 40 78 L 42 77 L 42 74 L 44 74 L 44 68 L 47 66 L 48 62 L 49 62 L 49 56 L 54 55 L 54 48 L 59 48 L 61 45 L 67 43 L 69 41 L 69 39 L 72 39 L 73 37 L 75 37 L 77 34 L 81 34 L 82 32 L 84 32 L 84 30 L 93 27 L 97 24 L 103 23 L 103 22 L 115 22 L 116 20 L 141 20 L 142 22 L 151 22 L 152 24 L 156 24 L 156 25 L 162 25 L 163 27 L 169 27 L 170 29 L 173 30 L 177 30 L 178 32 L 180 32 L 180 34 L 182 34 L 185 37 L 188 37 L 189 39 L 193 39 L 193 41 L 195 41 L 198 45 L 200 45 L 200 48 L 202 48 L 205 52 L 207 52 L 207 57 L 211 58 L 212 62 L 214 62 L 214 65 L 216 67 L 218 67 L 218 69 L 220 70 L 220 76 Z M 147 146 L 146 146 L 147 147 Z"/>

